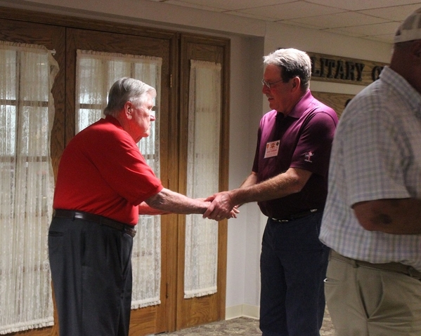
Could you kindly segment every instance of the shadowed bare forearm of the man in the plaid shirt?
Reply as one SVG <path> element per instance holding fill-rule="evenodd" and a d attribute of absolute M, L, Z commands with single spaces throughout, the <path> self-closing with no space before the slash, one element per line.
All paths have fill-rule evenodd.
<path fill-rule="evenodd" d="M 368 231 L 421 234 L 420 199 L 379 199 L 355 203 L 358 222 Z"/>

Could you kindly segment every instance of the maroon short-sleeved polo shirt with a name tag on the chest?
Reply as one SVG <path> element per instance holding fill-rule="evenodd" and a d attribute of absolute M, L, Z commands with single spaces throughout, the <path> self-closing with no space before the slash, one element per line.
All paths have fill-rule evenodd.
<path fill-rule="evenodd" d="M 276 110 L 263 116 L 253 164 L 258 182 L 290 167 L 313 173 L 299 193 L 259 202 L 264 215 L 284 218 L 305 210 L 324 208 L 330 149 L 337 121 L 335 111 L 313 98 L 310 90 L 287 116 Z"/>

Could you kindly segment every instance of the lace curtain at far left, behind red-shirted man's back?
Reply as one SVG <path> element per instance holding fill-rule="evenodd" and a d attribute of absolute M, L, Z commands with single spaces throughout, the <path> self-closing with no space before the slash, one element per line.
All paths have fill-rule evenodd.
<path fill-rule="evenodd" d="M 0 334 L 53 325 L 51 87 L 44 46 L 0 41 Z"/>

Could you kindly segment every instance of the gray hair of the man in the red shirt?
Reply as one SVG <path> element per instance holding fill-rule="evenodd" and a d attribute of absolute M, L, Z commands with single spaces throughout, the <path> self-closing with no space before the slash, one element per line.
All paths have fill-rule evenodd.
<path fill-rule="evenodd" d="M 108 93 L 108 105 L 104 109 L 105 116 L 116 117 L 124 108 L 126 102 L 133 102 L 141 105 L 146 98 L 146 93 L 150 93 L 155 98 L 157 92 L 152 86 L 129 77 L 118 79 L 110 88 Z"/>

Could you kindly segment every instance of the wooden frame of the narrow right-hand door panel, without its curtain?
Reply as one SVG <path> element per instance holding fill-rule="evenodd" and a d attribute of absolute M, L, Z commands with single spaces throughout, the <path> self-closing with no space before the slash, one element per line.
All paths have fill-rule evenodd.
<path fill-rule="evenodd" d="M 219 190 L 228 189 L 228 108 L 229 108 L 229 57 L 230 44 L 228 39 L 217 39 L 208 36 L 184 34 L 181 36 L 181 109 L 180 133 L 188 134 L 188 88 L 190 60 L 215 62 L 221 64 L 221 139 L 219 150 Z M 186 193 L 187 136 L 180 140 L 180 192 Z M 208 195 L 204 195 L 208 196 Z M 185 253 L 185 216 L 179 222 L 178 249 L 178 290 L 176 328 L 187 328 L 225 318 L 226 296 L 226 241 L 227 220 L 219 222 L 218 229 L 218 271 L 217 292 L 213 295 L 184 299 L 184 253 Z"/>

